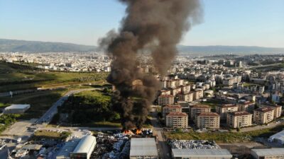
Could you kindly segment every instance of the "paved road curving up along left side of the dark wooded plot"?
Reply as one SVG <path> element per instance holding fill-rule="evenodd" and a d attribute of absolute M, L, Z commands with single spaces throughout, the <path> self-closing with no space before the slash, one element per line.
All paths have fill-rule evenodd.
<path fill-rule="evenodd" d="M 69 98 L 70 95 L 75 94 L 75 93 L 80 93 L 85 90 L 98 90 L 98 89 L 100 88 L 86 88 L 86 89 L 80 89 L 80 90 L 70 90 L 69 92 L 65 93 L 65 95 L 62 96 L 57 102 L 55 102 L 53 106 L 50 107 L 50 109 L 47 112 L 45 112 L 45 114 L 43 114 L 43 117 L 40 117 L 40 119 L 38 119 L 36 124 L 43 124 L 43 123 L 49 124 L 51 119 L 53 119 L 53 116 L 58 112 L 58 107 L 61 106 L 63 102 L 65 102 L 65 100 Z"/>

